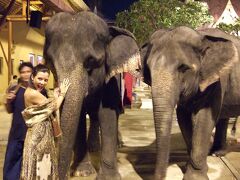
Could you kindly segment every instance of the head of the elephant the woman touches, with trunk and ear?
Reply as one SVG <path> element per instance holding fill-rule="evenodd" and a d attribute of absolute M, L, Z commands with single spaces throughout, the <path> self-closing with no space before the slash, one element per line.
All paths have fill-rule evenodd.
<path fill-rule="evenodd" d="M 59 173 L 65 177 L 85 96 L 91 95 L 117 73 L 139 69 L 139 48 L 134 36 L 108 27 L 91 12 L 58 13 L 45 31 L 44 57 L 55 79 L 71 81 L 61 111 L 63 136 L 59 145 Z"/>

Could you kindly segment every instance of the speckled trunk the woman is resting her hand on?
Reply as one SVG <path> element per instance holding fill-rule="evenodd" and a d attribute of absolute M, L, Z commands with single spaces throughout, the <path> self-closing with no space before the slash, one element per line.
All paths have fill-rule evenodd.
<path fill-rule="evenodd" d="M 80 73 L 82 72 L 82 73 Z M 59 142 L 59 178 L 68 179 L 68 170 L 76 138 L 83 99 L 87 92 L 88 77 L 83 67 L 76 67 L 69 77 L 71 85 L 66 94 L 61 112 L 63 135 Z M 60 78 L 61 80 L 61 78 Z"/>

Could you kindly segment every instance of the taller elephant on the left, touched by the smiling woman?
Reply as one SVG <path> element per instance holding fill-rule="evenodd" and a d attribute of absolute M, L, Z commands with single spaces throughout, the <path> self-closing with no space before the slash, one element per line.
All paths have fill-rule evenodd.
<path fill-rule="evenodd" d="M 119 91 L 115 75 L 139 74 L 140 52 L 132 33 L 108 26 L 88 11 L 57 13 L 47 23 L 44 58 L 60 83 L 71 85 L 61 108 L 59 178 L 67 179 L 72 168 L 91 173 L 86 143 L 86 113 L 99 120 L 101 160 L 97 179 L 120 179 L 117 167 L 117 118 Z M 80 172 L 81 173 L 81 172 Z"/>

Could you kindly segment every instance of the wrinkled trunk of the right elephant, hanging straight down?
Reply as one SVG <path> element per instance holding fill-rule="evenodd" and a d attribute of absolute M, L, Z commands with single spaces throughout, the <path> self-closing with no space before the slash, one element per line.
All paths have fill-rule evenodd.
<path fill-rule="evenodd" d="M 164 179 L 169 162 L 173 110 L 176 105 L 173 76 L 164 71 L 152 75 L 152 98 L 156 132 L 157 159 L 155 179 Z M 160 80 L 159 80 L 160 78 Z"/>

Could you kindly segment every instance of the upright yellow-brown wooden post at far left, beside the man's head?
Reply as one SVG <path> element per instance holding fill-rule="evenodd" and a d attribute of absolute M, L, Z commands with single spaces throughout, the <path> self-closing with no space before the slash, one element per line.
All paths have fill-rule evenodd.
<path fill-rule="evenodd" d="M 12 21 L 8 21 L 8 83 L 11 81 L 12 77 Z"/>

